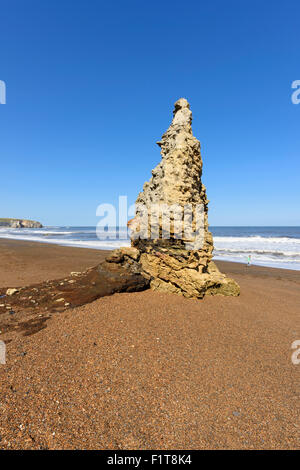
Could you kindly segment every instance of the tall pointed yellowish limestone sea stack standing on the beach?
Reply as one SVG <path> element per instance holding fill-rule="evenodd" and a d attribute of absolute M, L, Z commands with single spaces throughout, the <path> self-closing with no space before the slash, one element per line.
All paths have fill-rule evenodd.
<path fill-rule="evenodd" d="M 136 215 L 129 222 L 132 247 L 115 250 L 107 261 L 141 272 L 154 290 L 191 298 L 237 296 L 237 283 L 211 261 L 213 239 L 201 182 L 200 142 L 191 124 L 189 103 L 181 98 L 158 142 L 162 160 L 138 195 Z"/>

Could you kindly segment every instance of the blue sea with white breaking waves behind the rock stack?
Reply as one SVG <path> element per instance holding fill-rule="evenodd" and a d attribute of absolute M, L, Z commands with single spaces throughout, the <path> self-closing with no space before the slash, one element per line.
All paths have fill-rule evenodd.
<path fill-rule="evenodd" d="M 300 270 L 300 227 L 210 227 L 214 237 L 214 259 L 254 265 Z M 63 246 L 110 250 L 129 246 L 120 239 L 99 240 L 96 227 L 44 227 L 12 229 L 0 227 L 0 238 L 54 243 Z"/>

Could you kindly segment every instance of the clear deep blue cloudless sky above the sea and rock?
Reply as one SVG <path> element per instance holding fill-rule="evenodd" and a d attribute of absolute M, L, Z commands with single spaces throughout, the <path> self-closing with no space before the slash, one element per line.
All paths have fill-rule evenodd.
<path fill-rule="evenodd" d="M 299 1 L 1 0 L 0 216 L 133 203 L 186 97 L 211 225 L 300 225 Z"/>

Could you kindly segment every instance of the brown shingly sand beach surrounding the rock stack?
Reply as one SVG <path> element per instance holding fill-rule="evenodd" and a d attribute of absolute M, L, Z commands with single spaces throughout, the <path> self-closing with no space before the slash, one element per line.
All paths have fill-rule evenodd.
<path fill-rule="evenodd" d="M 0 240 L 0 287 L 105 254 Z M 0 334 L 0 448 L 299 448 L 300 272 L 217 264 L 239 297 L 115 294 Z"/>

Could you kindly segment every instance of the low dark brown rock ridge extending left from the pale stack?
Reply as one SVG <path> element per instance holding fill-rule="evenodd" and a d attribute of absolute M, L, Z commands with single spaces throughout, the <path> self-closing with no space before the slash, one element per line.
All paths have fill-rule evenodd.
<path fill-rule="evenodd" d="M 116 292 L 137 292 L 148 287 L 149 281 L 141 274 L 104 261 L 84 272 L 71 273 L 64 279 L 19 289 L 0 289 L 0 332 L 16 331 L 31 335 L 46 328 L 52 313 Z"/>

